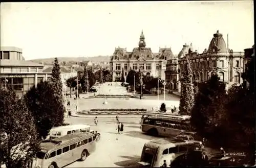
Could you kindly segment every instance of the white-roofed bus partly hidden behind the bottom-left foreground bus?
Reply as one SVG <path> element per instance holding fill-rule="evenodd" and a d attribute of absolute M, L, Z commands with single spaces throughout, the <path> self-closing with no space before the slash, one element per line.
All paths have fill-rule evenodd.
<path fill-rule="evenodd" d="M 82 131 L 82 132 L 91 132 L 91 133 L 96 133 L 96 141 L 100 139 L 100 133 L 97 133 L 96 131 L 94 132 L 93 130 L 90 130 L 89 125 L 68 125 L 68 126 L 59 126 L 59 127 L 53 127 L 49 133 L 46 139 L 54 139 L 60 136 L 68 135 L 77 131 Z"/>

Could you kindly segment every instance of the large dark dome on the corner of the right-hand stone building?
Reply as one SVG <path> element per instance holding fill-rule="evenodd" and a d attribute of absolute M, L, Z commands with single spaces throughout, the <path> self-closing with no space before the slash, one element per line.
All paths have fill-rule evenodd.
<path fill-rule="evenodd" d="M 226 52 L 226 43 L 223 38 L 223 35 L 219 33 L 217 30 L 217 33 L 214 34 L 214 37 L 211 39 L 208 51 L 210 53 L 218 53 L 218 52 Z"/>

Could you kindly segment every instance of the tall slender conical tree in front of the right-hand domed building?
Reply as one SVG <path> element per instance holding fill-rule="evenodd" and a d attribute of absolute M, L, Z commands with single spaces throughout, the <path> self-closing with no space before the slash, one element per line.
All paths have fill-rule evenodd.
<path fill-rule="evenodd" d="M 194 88 L 192 81 L 192 70 L 186 57 L 185 70 L 181 77 L 180 114 L 190 114 L 194 105 Z"/>

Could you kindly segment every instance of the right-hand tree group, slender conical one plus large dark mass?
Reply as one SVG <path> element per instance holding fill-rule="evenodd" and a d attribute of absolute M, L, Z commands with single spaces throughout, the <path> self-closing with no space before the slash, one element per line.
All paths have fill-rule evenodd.
<path fill-rule="evenodd" d="M 255 97 L 254 60 L 250 61 L 243 78 L 250 87 L 232 86 L 226 90 L 226 83 L 217 75 L 201 83 L 197 89 L 192 83 L 191 67 L 187 58 L 181 77 L 181 114 L 191 115 L 190 123 L 201 137 L 212 147 L 226 147 L 248 152 L 254 158 Z"/>

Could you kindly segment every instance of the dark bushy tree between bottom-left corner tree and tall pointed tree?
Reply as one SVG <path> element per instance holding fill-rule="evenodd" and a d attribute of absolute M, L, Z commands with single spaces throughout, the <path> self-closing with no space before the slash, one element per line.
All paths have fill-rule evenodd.
<path fill-rule="evenodd" d="M 52 82 L 40 82 L 25 94 L 29 111 L 34 116 L 39 138 L 45 138 L 52 127 L 63 124 L 65 107 L 55 93 Z"/>

